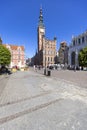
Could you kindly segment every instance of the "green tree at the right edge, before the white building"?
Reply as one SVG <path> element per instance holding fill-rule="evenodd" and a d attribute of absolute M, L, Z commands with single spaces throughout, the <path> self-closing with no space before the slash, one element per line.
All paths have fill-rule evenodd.
<path fill-rule="evenodd" d="M 87 67 L 87 47 L 79 52 L 78 59 L 80 66 Z"/>

